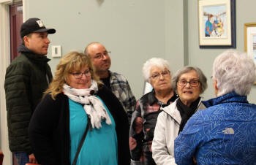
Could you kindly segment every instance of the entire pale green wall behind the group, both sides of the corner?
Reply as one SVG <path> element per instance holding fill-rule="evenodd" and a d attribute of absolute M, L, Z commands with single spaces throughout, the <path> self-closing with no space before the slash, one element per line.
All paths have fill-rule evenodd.
<path fill-rule="evenodd" d="M 41 18 L 48 27 L 51 45 L 61 45 L 62 54 L 83 51 L 93 41 L 110 50 L 111 70 L 124 74 L 136 99 L 143 93 L 143 63 L 151 57 L 165 58 L 173 72 L 184 65 L 198 66 L 208 78 L 205 99 L 214 97 L 211 66 L 223 49 L 200 49 L 197 0 L 26 0 L 26 18 Z M 244 50 L 244 23 L 256 22 L 255 0 L 236 0 L 236 45 Z M 50 49 L 48 57 L 50 56 Z M 50 66 L 55 71 L 59 58 Z M 249 101 L 256 103 L 256 86 Z"/>

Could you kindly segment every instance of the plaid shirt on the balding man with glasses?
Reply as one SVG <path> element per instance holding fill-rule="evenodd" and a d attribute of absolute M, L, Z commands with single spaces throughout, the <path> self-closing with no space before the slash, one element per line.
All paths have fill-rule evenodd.
<path fill-rule="evenodd" d="M 129 82 L 122 74 L 110 72 L 110 87 L 111 91 L 121 102 L 125 112 L 127 112 L 130 121 L 132 112 L 135 110 L 136 99 L 129 87 Z"/>

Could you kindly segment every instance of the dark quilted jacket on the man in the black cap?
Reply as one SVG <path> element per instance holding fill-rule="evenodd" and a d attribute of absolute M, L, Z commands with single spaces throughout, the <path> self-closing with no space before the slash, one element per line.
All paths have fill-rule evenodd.
<path fill-rule="evenodd" d="M 34 54 L 24 45 L 18 50 L 21 54 L 8 66 L 4 82 L 9 147 L 29 154 L 29 120 L 53 76 L 45 55 Z"/>

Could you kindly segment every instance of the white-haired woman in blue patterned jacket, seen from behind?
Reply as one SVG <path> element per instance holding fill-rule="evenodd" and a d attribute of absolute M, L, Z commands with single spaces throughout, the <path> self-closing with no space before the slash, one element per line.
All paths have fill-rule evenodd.
<path fill-rule="evenodd" d="M 247 95 L 256 78 L 248 55 L 226 50 L 214 61 L 216 98 L 192 116 L 175 140 L 176 164 L 255 164 L 256 105 Z"/>

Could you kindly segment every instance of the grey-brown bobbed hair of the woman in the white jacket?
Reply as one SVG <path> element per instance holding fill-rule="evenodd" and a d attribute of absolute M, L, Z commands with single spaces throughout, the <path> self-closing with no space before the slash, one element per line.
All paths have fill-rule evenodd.
<path fill-rule="evenodd" d="M 178 79 L 181 77 L 182 74 L 185 74 L 190 71 L 195 71 L 197 72 L 199 81 L 200 81 L 200 93 L 203 93 L 206 91 L 207 88 L 207 78 L 205 74 L 203 74 L 202 70 L 195 67 L 195 66 L 184 66 L 182 69 L 179 69 L 172 78 L 172 85 L 173 85 L 173 90 L 176 91 L 177 93 L 177 82 Z"/>

